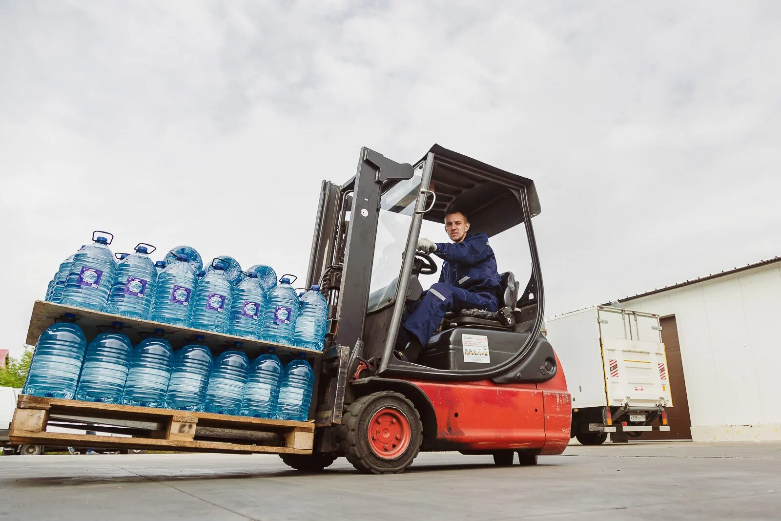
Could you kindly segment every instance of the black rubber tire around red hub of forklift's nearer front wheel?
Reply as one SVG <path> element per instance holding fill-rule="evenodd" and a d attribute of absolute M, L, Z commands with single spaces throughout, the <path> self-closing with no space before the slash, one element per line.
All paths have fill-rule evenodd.
<path fill-rule="evenodd" d="M 372 444 L 382 444 L 381 440 L 386 434 L 383 434 L 379 441 L 376 438 L 369 439 L 369 422 L 383 409 L 390 409 L 392 414 L 404 416 L 408 427 L 403 438 L 394 438 L 401 439 L 401 445 L 394 444 L 394 441 L 384 445 L 391 454 L 393 451 L 401 451 L 392 458 L 381 457 L 372 448 Z M 402 428 L 401 422 L 398 428 Z M 358 398 L 348 406 L 347 412 L 342 417 L 339 437 L 341 451 L 358 472 L 398 474 L 412 465 L 412 460 L 418 455 L 423 441 L 423 424 L 420 422 L 420 415 L 415 405 L 412 405 L 412 401 L 405 398 L 403 394 L 380 391 Z"/>

